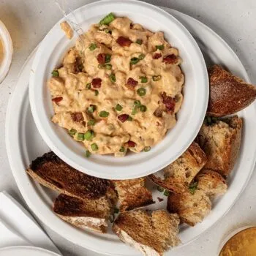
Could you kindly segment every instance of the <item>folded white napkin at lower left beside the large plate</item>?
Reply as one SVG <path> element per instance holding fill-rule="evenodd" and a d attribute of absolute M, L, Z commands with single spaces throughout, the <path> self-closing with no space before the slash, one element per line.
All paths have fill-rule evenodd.
<path fill-rule="evenodd" d="M 0 248 L 37 246 L 61 255 L 31 214 L 7 192 L 0 192 L 0 206 Z"/>

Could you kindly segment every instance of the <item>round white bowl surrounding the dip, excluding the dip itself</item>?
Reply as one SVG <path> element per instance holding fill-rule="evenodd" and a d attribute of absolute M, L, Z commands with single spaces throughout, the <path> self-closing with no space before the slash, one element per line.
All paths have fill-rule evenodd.
<path fill-rule="evenodd" d="M 164 140 L 149 152 L 126 157 L 92 155 L 85 157 L 85 148 L 75 142 L 63 128 L 53 124 L 53 107 L 47 80 L 51 71 L 61 64 L 64 53 L 75 44 L 66 39 L 59 23 L 53 26 L 39 45 L 31 69 L 29 99 L 34 121 L 45 143 L 65 162 L 91 176 L 127 179 L 147 176 L 177 159 L 195 139 L 203 123 L 208 104 L 208 74 L 203 55 L 189 31 L 167 12 L 140 1 L 97 1 L 75 10 L 78 23 L 86 31 L 109 12 L 127 16 L 151 31 L 163 31 L 171 45 L 178 48 L 184 60 L 184 103 L 178 113 L 176 126 Z M 72 18 L 72 16 L 70 16 Z"/>

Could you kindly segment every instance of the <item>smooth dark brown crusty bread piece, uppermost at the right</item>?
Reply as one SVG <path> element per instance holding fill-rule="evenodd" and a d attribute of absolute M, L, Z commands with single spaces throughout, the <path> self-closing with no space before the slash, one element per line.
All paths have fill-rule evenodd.
<path fill-rule="evenodd" d="M 208 70 L 210 97 L 208 116 L 227 116 L 250 105 L 256 97 L 256 87 L 232 75 L 219 65 Z"/>

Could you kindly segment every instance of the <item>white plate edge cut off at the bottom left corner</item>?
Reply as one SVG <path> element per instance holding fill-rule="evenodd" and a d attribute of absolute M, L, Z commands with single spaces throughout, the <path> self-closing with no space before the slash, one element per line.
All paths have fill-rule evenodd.
<path fill-rule="evenodd" d="M 10 246 L 0 249 L 0 256 L 60 256 L 55 252 L 50 252 L 34 246 Z"/>

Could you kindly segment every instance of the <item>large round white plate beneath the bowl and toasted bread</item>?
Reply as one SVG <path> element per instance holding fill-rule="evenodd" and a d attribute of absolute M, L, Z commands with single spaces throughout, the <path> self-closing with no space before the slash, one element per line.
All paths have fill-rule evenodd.
<path fill-rule="evenodd" d="M 211 59 L 215 63 L 223 64 L 236 75 L 249 81 L 246 71 L 236 54 L 214 31 L 181 12 L 168 11 L 181 20 L 194 37 L 197 38 L 197 42 L 202 47 L 207 60 Z M 53 214 L 51 209 L 54 194 L 49 189 L 45 189 L 31 181 L 26 175 L 24 170 L 29 166 L 31 160 L 49 150 L 37 132 L 29 109 L 28 80 L 33 57 L 34 55 L 30 56 L 29 62 L 26 63 L 20 74 L 18 85 L 12 94 L 7 110 L 7 153 L 12 173 L 20 192 L 31 210 L 37 214 L 37 217 L 45 225 L 48 225 L 48 227 L 69 241 L 103 254 L 119 256 L 138 255 L 135 249 L 122 244 L 113 234 L 99 235 L 97 233 L 83 232 L 61 221 L 61 219 Z M 256 144 L 252 143 L 252 140 L 255 138 L 256 127 L 255 105 L 250 105 L 249 108 L 241 111 L 239 116 L 244 118 L 245 125 L 238 162 L 228 180 L 229 189 L 224 196 L 219 197 L 214 202 L 211 214 L 201 224 L 195 227 L 181 226 L 180 237 L 183 244 L 193 241 L 223 217 L 236 202 L 251 176 L 255 165 L 256 151 Z M 157 206 L 158 204 L 154 205 L 154 208 L 157 208 Z M 167 252 L 166 255 L 173 254 L 175 252 Z"/>

